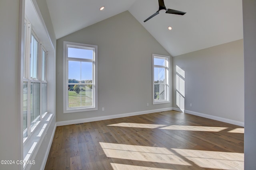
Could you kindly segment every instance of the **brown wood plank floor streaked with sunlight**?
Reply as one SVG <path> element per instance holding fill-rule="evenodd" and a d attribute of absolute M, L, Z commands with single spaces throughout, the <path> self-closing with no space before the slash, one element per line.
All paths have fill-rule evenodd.
<path fill-rule="evenodd" d="M 56 128 L 45 170 L 242 170 L 243 128 L 178 111 Z"/>

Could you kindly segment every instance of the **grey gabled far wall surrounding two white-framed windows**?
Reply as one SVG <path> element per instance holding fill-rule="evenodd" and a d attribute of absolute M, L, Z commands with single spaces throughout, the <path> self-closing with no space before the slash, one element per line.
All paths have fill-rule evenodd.
<path fill-rule="evenodd" d="M 63 41 L 98 45 L 98 111 L 63 113 Z M 152 53 L 169 55 L 128 11 L 58 39 L 57 122 L 172 107 L 152 105 Z"/>

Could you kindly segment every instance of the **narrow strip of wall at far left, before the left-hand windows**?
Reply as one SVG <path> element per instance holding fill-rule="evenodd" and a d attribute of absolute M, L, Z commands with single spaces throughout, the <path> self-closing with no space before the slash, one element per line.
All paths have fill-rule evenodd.
<path fill-rule="evenodd" d="M 20 160 L 20 102 L 18 80 L 19 0 L 0 1 L 0 160 Z M 16 170 L 18 165 L 2 165 Z"/>

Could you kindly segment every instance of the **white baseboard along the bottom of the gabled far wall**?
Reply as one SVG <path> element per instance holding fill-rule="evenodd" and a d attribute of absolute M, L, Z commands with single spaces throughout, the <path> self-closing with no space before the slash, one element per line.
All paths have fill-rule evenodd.
<path fill-rule="evenodd" d="M 144 115 L 144 114 L 155 113 L 155 112 L 160 112 L 160 111 L 169 111 L 172 109 L 173 109 L 172 107 L 167 107 L 167 108 L 163 108 L 163 109 L 137 111 L 137 112 L 132 112 L 132 113 L 117 114 L 117 115 L 90 117 L 90 118 L 85 118 L 85 119 L 75 119 L 75 120 L 68 120 L 68 121 L 58 121 L 58 122 L 56 122 L 56 124 L 57 124 L 57 126 L 72 125 L 72 124 L 86 123 L 86 122 L 91 122 L 91 121 L 100 121 L 100 120 L 115 119 L 115 118 L 135 116 L 135 115 Z"/>

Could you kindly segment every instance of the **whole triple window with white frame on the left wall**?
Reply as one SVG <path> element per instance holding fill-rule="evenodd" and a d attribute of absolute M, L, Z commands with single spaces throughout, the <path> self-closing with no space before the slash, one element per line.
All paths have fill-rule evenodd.
<path fill-rule="evenodd" d="M 31 29 L 24 23 L 23 57 L 23 141 L 32 134 L 47 113 L 47 52 Z"/>

